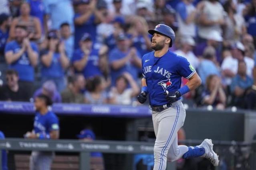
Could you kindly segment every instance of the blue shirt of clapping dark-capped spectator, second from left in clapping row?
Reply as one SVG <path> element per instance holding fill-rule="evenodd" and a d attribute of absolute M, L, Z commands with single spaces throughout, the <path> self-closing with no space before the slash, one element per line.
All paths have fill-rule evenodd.
<path fill-rule="evenodd" d="M 47 53 L 48 53 L 48 50 L 43 51 L 41 53 L 41 56 Z M 64 76 L 64 69 L 62 68 L 60 63 L 60 53 L 56 53 L 56 52 L 53 53 L 52 63 L 50 64 L 49 67 L 42 65 L 41 75 L 42 77 L 56 77 L 56 78 Z"/>

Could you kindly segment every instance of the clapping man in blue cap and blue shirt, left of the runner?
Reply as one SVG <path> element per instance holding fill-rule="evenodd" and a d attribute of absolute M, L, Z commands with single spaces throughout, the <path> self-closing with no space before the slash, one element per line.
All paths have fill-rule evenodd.
<path fill-rule="evenodd" d="M 100 49 L 93 48 L 93 42 L 90 34 L 85 33 L 79 42 L 80 48 L 75 50 L 72 63 L 77 72 L 83 73 L 85 78 L 102 76 L 103 72 L 100 69 L 100 57 L 107 53 L 107 46 L 102 46 Z"/>

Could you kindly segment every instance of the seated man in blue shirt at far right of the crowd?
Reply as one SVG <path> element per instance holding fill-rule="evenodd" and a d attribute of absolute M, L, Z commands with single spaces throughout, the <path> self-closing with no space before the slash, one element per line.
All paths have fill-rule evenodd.
<path fill-rule="evenodd" d="M 253 79 L 246 75 L 245 61 L 239 61 L 238 73 L 232 79 L 230 90 L 233 95 L 233 104 L 238 107 L 244 107 L 244 96 L 246 90 L 253 85 Z"/>

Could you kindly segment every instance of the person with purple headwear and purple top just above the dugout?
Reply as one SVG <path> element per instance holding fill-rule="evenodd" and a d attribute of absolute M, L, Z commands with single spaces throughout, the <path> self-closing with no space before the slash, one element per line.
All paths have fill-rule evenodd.
<path fill-rule="evenodd" d="M 58 93 L 56 85 L 51 80 L 44 82 L 42 87 L 36 90 L 36 92 L 33 95 L 33 98 L 35 99 L 40 94 L 50 97 L 53 103 L 61 103 L 60 93 Z"/>

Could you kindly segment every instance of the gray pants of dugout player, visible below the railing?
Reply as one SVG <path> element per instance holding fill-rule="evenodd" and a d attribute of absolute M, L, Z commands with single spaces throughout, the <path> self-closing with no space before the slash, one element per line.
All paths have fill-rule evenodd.
<path fill-rule="evenodd" d="M 30 170 L 50 170 L 54 152 L 32 151 L 30 156 Z"/>

